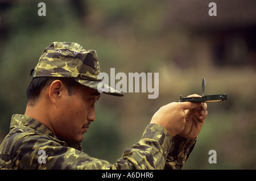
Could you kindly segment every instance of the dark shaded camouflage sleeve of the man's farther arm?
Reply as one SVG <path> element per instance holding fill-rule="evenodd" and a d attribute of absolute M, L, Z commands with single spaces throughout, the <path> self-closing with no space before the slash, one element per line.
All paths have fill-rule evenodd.
<path fill-rule="evenodd" d="M 172 137 L 172 148 L 167 155 L 164 169 L 180 170 L 187 161 L 196 144 L 196 139 L 189 139 L 177 134 Z"/>

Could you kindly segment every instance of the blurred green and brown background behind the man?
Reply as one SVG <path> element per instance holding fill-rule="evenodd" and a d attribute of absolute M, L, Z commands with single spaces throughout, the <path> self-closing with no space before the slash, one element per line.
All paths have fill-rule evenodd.
<path fill-rule="evenodd" d="M 0 142 L 10 118 L 24 113 L 29 71 L 53 41 L 97 50 L 101 70 L 159 73 L 159 97 L 102 95 L 82 142 L 92 157 L 114 162 L 141 138 L 152 115 L 179 96 L 228 93 L 208 103 L 208 117 L 183 169 L 256 169 L 256 1 L 0 0 Z M 216 2 L 217 16 L 209 16 Z M 117 83 L 118 81 L 116 81 Z M 71 120 L 72 121 L 72 120 Z M 217 163 L 210 164 L 209 150 Z"/>

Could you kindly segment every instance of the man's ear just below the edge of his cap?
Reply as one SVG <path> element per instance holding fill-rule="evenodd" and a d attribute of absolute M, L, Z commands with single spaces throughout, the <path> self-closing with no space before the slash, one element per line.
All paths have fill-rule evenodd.
<path fill-rule="evenodd" d="M 49 99 L 56 104 L 56 101 L 61 98 L 64 91 L 64 85 L 60 80 L 55 80 L 49 86 Z"/>

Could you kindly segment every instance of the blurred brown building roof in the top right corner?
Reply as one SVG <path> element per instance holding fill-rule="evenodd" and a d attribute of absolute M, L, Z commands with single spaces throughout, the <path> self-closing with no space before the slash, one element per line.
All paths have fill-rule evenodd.
<path fill-rule="evenodd" d="M 217 5 L 217 16 L 209 16 L 210 2 Z M 256 25 L 255 0 L 173 0 L 168 7 L 167 26 L 192 30 L 229 30 Z"/>

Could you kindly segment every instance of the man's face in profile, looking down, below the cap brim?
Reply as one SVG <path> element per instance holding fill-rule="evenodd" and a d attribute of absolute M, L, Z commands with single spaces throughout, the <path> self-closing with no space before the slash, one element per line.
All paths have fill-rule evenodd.
<path fill-rule="evenodd" d="M 56 116 L 56 136 L 69 144 L 81 142 L 89 123 L 96 119 L 94 104 L 99 96 L 97 90 L 85 86 L 77 87 L 71 96 L 65 91 Z"/>

